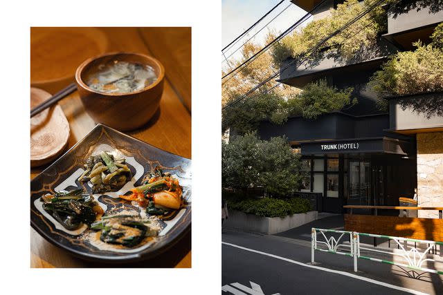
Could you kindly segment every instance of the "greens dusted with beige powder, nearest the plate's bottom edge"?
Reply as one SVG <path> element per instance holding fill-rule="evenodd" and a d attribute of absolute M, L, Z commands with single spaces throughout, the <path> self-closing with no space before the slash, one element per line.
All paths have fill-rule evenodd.
<path fill-rule="evenodd" d="M 145 237 L 159 233 L 159 227 L 151 225 L 149 220 L 130 215 L 104 216 L 102 220 L 94 222 L 91 229 L 101 231 L 102 242 L 125 247 L 134 247 Z"/>

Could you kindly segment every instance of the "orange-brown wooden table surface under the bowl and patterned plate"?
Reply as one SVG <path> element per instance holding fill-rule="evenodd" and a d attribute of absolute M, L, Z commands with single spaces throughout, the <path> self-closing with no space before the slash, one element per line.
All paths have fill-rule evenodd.
<path fill-rule="evenodd" d="M 165 66 L 165 90 L 160 111 L 153 120 L 129 135 L 154 146 L 191 158 L 191 29 L 100 28 L 109 39 L 109 51 L 133 51 L 152 55 Z M 54 49 L 56 50 L 56 49 Z M 71 127 L 69 148 L 86 135 L 95 122 L 84 111 L 75 92 L 60 103 Z M 48 165 L 46 165 L 48 166 Z M 31 180 L 46 166 L 31 169 Z M 120 267 L 191 267 L 190 233 L 174 249 L 158 258 Z M 31 267 L 115 267 L 89 263 L 53 246 L 30 229 Z"/>

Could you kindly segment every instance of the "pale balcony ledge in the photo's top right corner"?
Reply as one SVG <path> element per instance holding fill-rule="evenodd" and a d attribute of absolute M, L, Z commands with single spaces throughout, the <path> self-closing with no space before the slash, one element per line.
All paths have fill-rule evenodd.
<path fill-rule="evenodd" d="M 388 33 L 383 37 L 399 48 L 411 50 L 413 42 L 418 39 L 428 44 L 435 26 L 442 21 L 443 10 L 433 13 L 429 8 L 413 9 L 397 16 L 391 13 L 388 15 Z"/>

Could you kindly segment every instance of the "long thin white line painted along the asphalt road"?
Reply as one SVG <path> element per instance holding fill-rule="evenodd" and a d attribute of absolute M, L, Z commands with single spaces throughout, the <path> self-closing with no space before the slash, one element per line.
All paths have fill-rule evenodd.
<path fill-rule="evenodd" d="M 262 252 L 262 251 L 257 251 L 257 250 L 254 250 L 254 249 L 249 249 L 249 248 L 242 247 L 242 246 L 239 246 L 239 245 L 231 244 L 229 242 L 221 242 L 221 244 L 228 245 L 228 246 L 231 246 L 231 247 L 235 247 L 235 248 L 238 248 L 238 249 L 242 249 L 242 250 L 245 250 L 245 251 L 250 251 L 250 252 L 253 252 L 253 253 L 257 253 L 257 254 L 262 254 L 264 256 L 269 256 L 269 257 L 272 257 L 272 258 L 277 258 L 277 259 L 284 260 L 284 261 L 287 261 L 289 263 L 293 263 L 293 264 L 300 265 L 300 266 L 303 266 L 303 267 L 309 267 L 309 268 L 313 268 L 313 269 L 323 270 L 324 272 L 332 272 L 334 274 L 341 274 L 343 276 L 349 276 L 350 278 L 356 278 L 357 280 L 364 280 L 365 282 L 368 282 L 368 283 L 372 283 L 372 284 L 375 284 L 375 285 L 381 285 L 383 287 L 388 287 L 388 288 L 391 288 L 391 289 L 396 289 L 396 290 L 403 291 L 403 292 L 408 292 L 408 293 L 411 293 L 411 294 L 428 295 L 427 293 L 419 292 L 419 291 L 416 291 L 416 290 L 413 290 L 413 289 L 408 289 L 408 288 L 405 288 L 405 287 L 399 287 L 399 286 L 396 286 L 396 285 L 391 285 L 389 283 L 383 283 L 383 282 L 380 282 L 379 280 L 373 280 L 372 278 L 365 278 L 363 276 L 357 276 L 355 274 L 350 274 L 349 272 L 341 272 L 339 270 L 327 269 L 325 267 L 318 267 L 318 266 L 315 266 L 315 265 L 307 265 L 306 263 L 300 263 L 300 261 L 292 260 L 292 259 L 289 259 L 289 258 L 284 258 L 284 257 L 281 257 L 281 256 L 277 256 L 277 255 L 274 255 L 274 254 L 269 254 L 269 253 Z"/>

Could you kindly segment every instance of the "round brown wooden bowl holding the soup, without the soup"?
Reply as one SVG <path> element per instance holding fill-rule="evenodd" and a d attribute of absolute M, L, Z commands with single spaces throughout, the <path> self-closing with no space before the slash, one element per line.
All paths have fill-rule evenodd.
<path fill-rule="evenodd" d="M 147 64 L 154 68 L 157 79 L 140 91 L 132 93 L 100 93 L 87 84 L 87 78 L 96 72 L 100 64 L 109 61 L 127 61 Z M 103 123 L 120 131 L 137 129 L 146 124 L 159 108 L 163 93 L 165 69 L 154 57 L 140 53 L 107 53 L 87 59 L 75 72 L 78 93 L 87 113 L 96 123 Z"/>

